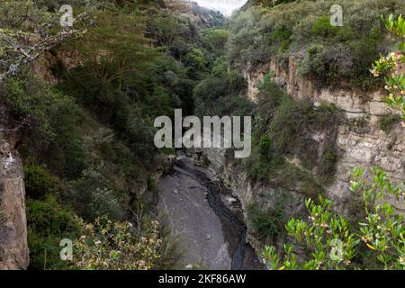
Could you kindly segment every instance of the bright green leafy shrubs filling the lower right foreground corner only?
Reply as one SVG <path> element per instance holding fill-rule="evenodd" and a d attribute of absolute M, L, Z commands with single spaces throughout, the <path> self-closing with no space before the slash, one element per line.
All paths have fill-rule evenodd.
<path fill-rule="evenodd" d="M 356 228 L 332 211 L 332 202 L 320 196 L 320 203 L 305 202 L 308 220 L 291 219 L 285 225 L 292 243 L 284 244 L 284 256 L 266 247 L 263 257 L 271 269 L 405 269 L 405 224 L 388 202 L 395 196 L 405 200 L 403 188 L 395 187 L 381 168 L 372 169 L 372 181 L 365 170 L 355 168 L 350 190 L 364 203 L 365 218 Z"/>

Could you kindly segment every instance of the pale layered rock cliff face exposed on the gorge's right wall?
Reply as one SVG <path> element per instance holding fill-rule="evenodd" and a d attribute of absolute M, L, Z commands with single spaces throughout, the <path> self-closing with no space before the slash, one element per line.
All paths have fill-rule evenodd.
<path fill-rule="evenodd" d="M 294 58 L 290 58 L 284 66 L 278 65 L 274 60 L 261 67 L 246 67 L 242 71 L 247 79 L 247 92 L 251 101 L 257 100 L 258 86 L 269 72 L 273 72 L 276 83 L 295 99 L 309 97 L 315 105 L 334 103 L 346 114 L 347 121 L 338 127 L 336 139 L 339 150 L 336 180 L 327 187 L 327 195 L 338 204 L 340 211 L 350 212 L 352 209 L 347 172 L 355 166 L 382 166 L 396 184 L 402 183 L 405 175 L 405 129 L 401 127 L 401 123 L 397 123 L 389 134 L 379 130 L 380 117 L 391 112 L 381 100 L 382 91 L 363 93 L 350 87 L 335 89 L 317 87 L 314 82 L 297 76 Z M 359 125 L 359 122 L 362 124 Z M 311 146 L 318 147 L 320 152 L 328 140 L 326 137 L 322 133 L 311 135 Z M 260 203 L 265 209 L 275 206 L 279 192 L 268 184 L 252 181 L 243 166 L 229 160 L 226 150 L 206 149 L 198 153 L 193 151 L 192 154 L 193 157 L 200 157 L 200 159 L 206 157 L 205 160 L 208 160 L 207 163 L 213 174 L 233 189 L 235 196 L 242 202 L 244 211 L 247 211 L 247 205 L 252 200 Z M 293 160 L 294 163 L 297 161 Z M 299 162 L 295 164 L 300 165 Z M 299 216 L 305 211 L 303 204 L 305 195 L 300 192 L 300 187 L 286 193 L 289 197 L 288 204 L 284 208 L 286 217 Z M 405 209 L 405 207 L 397 207 Z M 245 216 L 247 216 L 246 212 Z M 247 240 L 253 247 L 260 248 L 260 243 L 255 238 L 248 219 L 247 228 Z"/>

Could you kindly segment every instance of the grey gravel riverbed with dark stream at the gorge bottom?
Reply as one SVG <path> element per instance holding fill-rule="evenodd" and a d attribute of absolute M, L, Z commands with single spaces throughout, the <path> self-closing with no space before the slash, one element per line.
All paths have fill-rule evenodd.
<path fill-rule="evenodd" d="M 239 202 L 226 202 L 231 191 L 188 157 L 175 161 L 173 172 L 158 186 L 173 233 L 180 237 L 187 265 L 209 269 L 263 269 L 246 243 L 246 225 Z"/>

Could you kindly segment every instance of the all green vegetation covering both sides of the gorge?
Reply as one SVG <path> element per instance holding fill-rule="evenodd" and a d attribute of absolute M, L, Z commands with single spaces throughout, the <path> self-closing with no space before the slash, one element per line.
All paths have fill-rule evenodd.
<path fill-rule="evenodd" d="M 31 269 L 175 267 L 176 241 L 158 211 L 150 212 L 156 202 L 139 197 L 154 193 L 153 177 L 166 168 L 163 152 L 173 152 L 153 145 L 153 120 L 173 116 L 175 108 L 184 116 L 252 115 L 252 155 L 230 161 L 253 181 L 308 198 L 309 220 L 286 220 L 285 199 L 273 208 L 247 207 L 262 242 L 284 233 L 285 224 L 290 244 L 264 253 L 271 268 L 403 268 L 403 219 L 386 202 L 387 195 L 403 195 L 383 170 L 373 170 L 373 183 L 364 170 L 353 173 L 352 190 L 365 204 L 356 215 L 360 224 L 318 197 L 333 181 L 338 126 L 347 123 L 338 107 L 294 100 L 271 73 L 251 103 L 241 75 L 272 58 L 282 66 L 294 58 L 298 73 L 318 85 L 366 90 L 385 80 L 386 101 L 403 112 L 404 79 L 392 74 L 403 55 L 375 62 L 374 76 L 368 69 L 392 50 L 395 40 L 385 28 L 405 49 L 404 22 L 396 17 L 405 14 L 403 1 L 343 1 L 345 27 L 330 25 L 329 0 L 248 1 L 220 27 L 202 25 L 223 23 L 220 14 L 201 10 L 201 21 L 184 13 L 184 5 L 163 0 L 76 0 L 74 29 L 62 29 L 61 4 L 6 0 L 0 7 L 0 103 L 22 134 Z M 381 22 L 380 14 L 391 13 Z M 22 57 L 37 38 L 46 55 L 34 49 Z M 10 41 L 18 46 L 7 46 Z M 33 58 L 39 60 L 30 69 Z M 33 73 L 35 65 L 50 75 Z M 387 114 L 379 128 L 388 133 L 398 121 Z M 320 145 L 313 134 L 322 135 Z M 73 262 L 60 260 L 61 238 L 76 239 Z M 343 241 L 335 262 L 329 261 L 334 238 Z"/>

